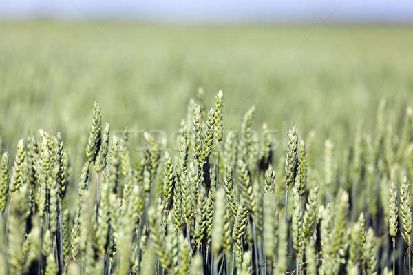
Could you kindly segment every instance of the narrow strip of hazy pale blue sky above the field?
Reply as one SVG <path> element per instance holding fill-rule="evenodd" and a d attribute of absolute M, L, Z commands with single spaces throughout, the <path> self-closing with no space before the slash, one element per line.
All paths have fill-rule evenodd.
<path fill-rule="evenodd" d="M 1 0 L 0 18 L 132 19 L 184 23 L 413 22 L 412 0 Z"/>

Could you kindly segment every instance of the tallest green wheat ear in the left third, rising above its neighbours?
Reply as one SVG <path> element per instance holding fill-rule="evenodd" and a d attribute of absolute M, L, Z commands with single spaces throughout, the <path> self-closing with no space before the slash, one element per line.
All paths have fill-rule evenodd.
<path fill-rule="evenodd" d="M 92 110 L 92 125 L 90 127 L 89 139 L 87 140 L 86 146 L 86 158 L 89 163 L 94 162 L 96 155 L 99 152 L 100 132 L 102 130 L 101 121 L 102 115 L 100 114 L 100 106 L 98 101 L 95 100 Z"/>

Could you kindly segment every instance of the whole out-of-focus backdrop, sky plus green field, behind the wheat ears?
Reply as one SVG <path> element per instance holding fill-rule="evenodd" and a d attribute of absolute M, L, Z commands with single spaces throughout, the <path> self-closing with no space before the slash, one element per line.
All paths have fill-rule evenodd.
<path fill-rule="evenodd" d="M 257 131 L 346 145 L 380 99 L 394 123 L 412 102 L 412 23 L 407 0 L 3 0 L 0 137 L 59 131 L 81 157 L 94 99 L 113 130 L 171 134 L 202 87 L 226 130 L 255 105 Z"/>

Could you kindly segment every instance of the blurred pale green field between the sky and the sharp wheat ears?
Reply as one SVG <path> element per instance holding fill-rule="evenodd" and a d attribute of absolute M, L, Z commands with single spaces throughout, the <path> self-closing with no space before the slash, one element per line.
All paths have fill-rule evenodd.
<path fill-rule="evenodd" d="M 226 93 L 227 128 L 256 105 L 258 123 L 281 129 L 287 121 L 341 139 L 354 130 L 354 117 L 372 125 L 381 97 L 399 108 L 396 114 L 410 101 L 411 32 L 1 22 L 1 136 L 15 146 L 17 137 L 45 128 L 70 131 L 68 141 L 78 141 L 94 99 L 113 128 L 171 131 L 202 87 L 207 100 L 219 89 Z"/>

